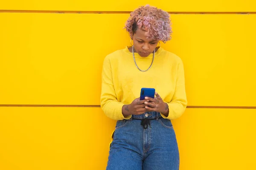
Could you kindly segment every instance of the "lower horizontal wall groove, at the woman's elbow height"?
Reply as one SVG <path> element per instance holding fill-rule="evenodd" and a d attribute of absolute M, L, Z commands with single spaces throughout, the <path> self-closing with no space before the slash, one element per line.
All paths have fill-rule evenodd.
<path fill-rule="evenodd" d="M 100 108 L 100 105 L 0 105 L 0 107 Z M 187 108 L 256 109 L 256 106 L 187 106 Z"/>

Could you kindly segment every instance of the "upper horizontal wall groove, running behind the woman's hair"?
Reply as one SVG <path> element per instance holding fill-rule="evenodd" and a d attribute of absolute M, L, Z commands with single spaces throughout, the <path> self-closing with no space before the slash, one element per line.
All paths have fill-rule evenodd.
<path fill-rule="evenodd" d="M 47 11 L 47 10 L 0 10 L 0 13 L 57 13 L 57 14 L 130 14 L 131 11 Z M 169 11 L 169 14 L 256 14 L 256 11 L 233 12 L 185 12 Z"/>

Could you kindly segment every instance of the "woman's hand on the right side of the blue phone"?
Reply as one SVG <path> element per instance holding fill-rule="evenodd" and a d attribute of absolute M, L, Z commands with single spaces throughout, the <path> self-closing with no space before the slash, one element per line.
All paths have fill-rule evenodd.
<path fill-rule="evenodd" d="M 163 101 L 163 99 L 160 97 L 160 95 L 157 92 L 155 92 L 155 95 L 156 95 L 155 98 L 145 97 L 146 100 L 149 100 L 149 102 L 148 101 L 144 102 L 144 104 L 146 105 L 145 109 L 147 111 L 160 112 L 160 113 L 163 113 L 165 116 L 168 116 L 169 107 L 167 103 Z"/>

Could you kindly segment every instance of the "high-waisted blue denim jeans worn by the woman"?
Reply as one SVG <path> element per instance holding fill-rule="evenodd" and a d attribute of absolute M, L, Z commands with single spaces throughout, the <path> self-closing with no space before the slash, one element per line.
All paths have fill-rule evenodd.
<path fill-rule="evenodd" d="M 147 128 L 141 125 L 148 118 Z M 172 122 L 159 112 L 118 120 L 107 170 L 179 170 L 180 155 Z"/>

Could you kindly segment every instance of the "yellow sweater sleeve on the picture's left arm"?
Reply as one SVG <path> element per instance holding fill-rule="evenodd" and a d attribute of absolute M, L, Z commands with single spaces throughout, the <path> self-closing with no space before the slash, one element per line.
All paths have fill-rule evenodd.
<path fill-rule="evenodd" d="M 115 88 L 113 85 L 111 62 L 109 57 L 105 57 L 102 68 L 102 91 L 101 91 L 101 108 L 111 119 L 122 120 L 130 119 L 130 116 L 124 117 L 122 114 L 123 103 L 117 101 Z"/>

